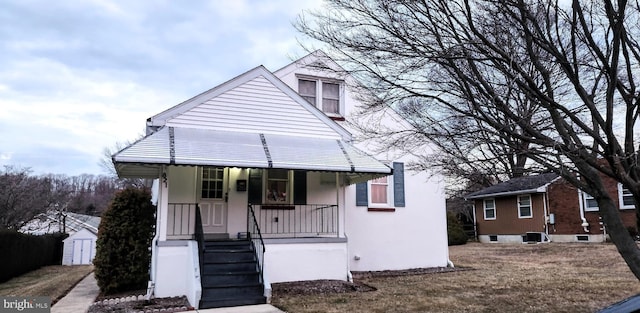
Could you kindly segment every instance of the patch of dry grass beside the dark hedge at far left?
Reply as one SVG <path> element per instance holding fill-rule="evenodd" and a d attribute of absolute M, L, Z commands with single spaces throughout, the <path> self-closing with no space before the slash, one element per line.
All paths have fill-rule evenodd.
<path fill-rule="evenodd" d="M 0 284 L 0 295 L 46 296 L 55 303 L 91 271 L 93 265 L 45 266 Z"/>

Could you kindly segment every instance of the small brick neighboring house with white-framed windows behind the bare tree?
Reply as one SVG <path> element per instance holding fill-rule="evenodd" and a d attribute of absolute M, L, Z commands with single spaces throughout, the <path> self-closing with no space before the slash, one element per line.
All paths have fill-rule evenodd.
<path fill-rule="evenodd" d="M 633 197 L 603 177 L 623 222 L 637 233 Z M 598 205 L 587 193 L 553 173 L 514 178 L 466 196 L 474 200 L 480 242 L 602 242 L 606 228 Z"/>

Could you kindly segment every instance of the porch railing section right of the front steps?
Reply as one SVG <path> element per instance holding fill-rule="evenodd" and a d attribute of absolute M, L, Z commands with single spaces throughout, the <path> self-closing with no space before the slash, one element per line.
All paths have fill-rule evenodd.
<path fill-rule="evenodd" d="M 338 237 L 335 204 L 253 205 L 265 238 Z"/>

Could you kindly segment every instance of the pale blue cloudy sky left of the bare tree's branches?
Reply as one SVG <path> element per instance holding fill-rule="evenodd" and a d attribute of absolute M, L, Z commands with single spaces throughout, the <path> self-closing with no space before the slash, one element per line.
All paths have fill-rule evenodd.
<path fill-rule="evenodd" d="M 103 150 L 255 66 L 306 54 L 320 0 L 0 2 L 0 166 L 104 174 Z"/>

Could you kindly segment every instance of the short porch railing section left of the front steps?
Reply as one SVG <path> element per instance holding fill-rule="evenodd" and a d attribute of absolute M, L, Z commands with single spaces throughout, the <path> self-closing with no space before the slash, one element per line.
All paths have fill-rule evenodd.
<path fill-rule="evenodd" d="M 169 203 L 167 239 L 194 239 L 197 203 Z"/>

